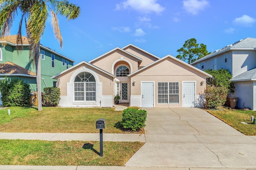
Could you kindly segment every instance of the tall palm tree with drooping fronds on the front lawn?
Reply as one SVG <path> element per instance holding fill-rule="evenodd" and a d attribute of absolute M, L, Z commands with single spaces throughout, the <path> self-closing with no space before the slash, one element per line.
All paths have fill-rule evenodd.
<path fill-rule="evenodd" d="M 38 92 L 38 111 L 42 110 L 41 96 L 41 59 L 40 39 L 44 34 L 48 14 L 52 17 L 52 27 L 56 39 L 62 48 L 62 35 L 58 25 L 57 15 L 60 14 L 68 20 L 80 15 L 80 7 L 67 0 L 0 0 L 0 38 L 8 35 L 17 14 L 21 14 L 16 43 L 22 49 L 22 24 L 25 23 L 26 35 L 30 43 L 29 57 L 36 66 L 36 84 Z M 5 44 L 3 44 L 5 45 Z"/>

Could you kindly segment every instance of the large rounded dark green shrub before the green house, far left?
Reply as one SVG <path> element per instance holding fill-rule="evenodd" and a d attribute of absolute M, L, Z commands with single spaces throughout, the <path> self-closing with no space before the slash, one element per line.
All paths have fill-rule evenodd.
<path fill-rule="evenodd" d="M 30 86 L 23 80 L 0 80 L 0 91 L 3 106 L 30 106 Z"/>

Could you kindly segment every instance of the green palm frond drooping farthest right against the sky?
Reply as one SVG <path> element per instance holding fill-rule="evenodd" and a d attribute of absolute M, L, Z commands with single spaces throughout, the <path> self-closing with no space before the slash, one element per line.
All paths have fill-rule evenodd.
<path fill-rule="evenodd" d="M 54 11 L 56 11 L 56 14 L 61 14 L 68 20 L 74 20 L 75 18 L 78 18 L 81 13 L 79 6 L 69 3 L 67 0 L 50 0 L 50 2 L 51 6 L 54 8 Z"/>

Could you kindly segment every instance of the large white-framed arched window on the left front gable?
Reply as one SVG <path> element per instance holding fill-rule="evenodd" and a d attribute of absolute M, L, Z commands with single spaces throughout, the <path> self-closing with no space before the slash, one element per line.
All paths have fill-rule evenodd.
<path fill-rule="evenodd" d="M 96 101 L 95 84 L 95 78 L 91 73 L 79 73 L 74 80 L 75 101 Z"/>

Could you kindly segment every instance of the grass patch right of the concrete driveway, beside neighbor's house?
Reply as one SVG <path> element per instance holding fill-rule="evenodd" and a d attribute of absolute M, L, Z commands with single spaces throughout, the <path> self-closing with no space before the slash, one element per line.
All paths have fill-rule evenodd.
<path fill-rule="evenodd" d="M 256 136 L 256 125 L 251 121 L 251 116 L 256 118 L 256 111 L 233 110 L 221 108 L 219 110 L 206 110 L 218 119 L 224 121 L 234 129 L 242 132 L 244 135 Z M 243 124 L 246 122 L 248 124 Z"/>

